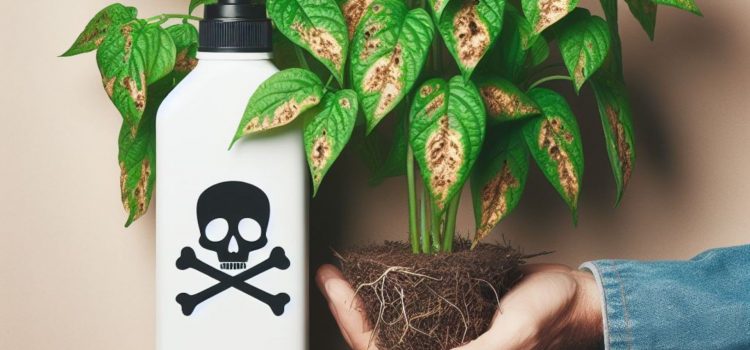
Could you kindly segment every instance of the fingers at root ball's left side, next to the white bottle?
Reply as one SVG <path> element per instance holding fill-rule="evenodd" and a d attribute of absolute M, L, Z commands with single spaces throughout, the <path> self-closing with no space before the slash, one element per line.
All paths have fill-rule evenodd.
<path fill-rule="evenodd" d="M 354 350 L 375 350 L 362 300 L 337 268 L 323 265 L 315 278 L 341 333 Z"/>

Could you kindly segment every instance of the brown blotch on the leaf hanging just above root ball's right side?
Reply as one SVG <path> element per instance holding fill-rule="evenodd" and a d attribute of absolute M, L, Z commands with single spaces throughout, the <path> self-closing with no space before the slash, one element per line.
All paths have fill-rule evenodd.
<path fill-rule="evenodd" d="M 487 237 L 505 217 L 508 213 L 508 190 L 520 185 L 505 161 L 502 170 L 482 188 L 482 221 L 474 236 L 474 244 Z"/>

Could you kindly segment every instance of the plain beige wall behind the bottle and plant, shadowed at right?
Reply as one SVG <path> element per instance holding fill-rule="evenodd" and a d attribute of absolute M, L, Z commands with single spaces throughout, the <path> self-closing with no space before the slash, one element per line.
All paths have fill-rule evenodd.
<path fill-rule="evenodd" d="M 6 1 L 0 22 L 0 349 L 152 349 L 153 215 L 122 227 L 119 117 L 94 56 L 58 59 L 107 2 Z M 131 0 L 144 16 L 187 1 Z M 585 5 L 598 9 L 593 1 Z M 537 170 L 515 215 L 496 232 L 544 260 L 687 258 L 747 243 L 750 215 L 750 1 L 699 1 L 705 18 L 663 8 L 657 39 L 621 6 L 638 166 L 622 206 L 592 96 L 574 104 L 586 175 L 580 225 Z M 558 87 L 569 91 L 566 85 Z M 378 190 L 353 152 L 313 203 L 313 265 L 329 246 L 402 239 L 404 183 Z M 336 184 L 336 185 L 334 185 Z M 464 204 L 468 204 L 465 198 Z M 472 229 L 468 205 L 458 227 Z M 312 349 L 338 335 L 311 290 Z"/>

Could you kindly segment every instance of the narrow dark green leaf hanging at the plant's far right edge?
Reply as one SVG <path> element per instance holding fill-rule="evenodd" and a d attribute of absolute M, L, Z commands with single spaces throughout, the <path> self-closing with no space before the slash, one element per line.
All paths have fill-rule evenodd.
<path fill-rule="evenodd" d="M 635 164 L 633 121 L 625 84 L 597 74 L 591 86 L 599 105 L 599 114 L 607 144 L 607 155 L 617 186 L 615 205 L 620 202 Z"/>

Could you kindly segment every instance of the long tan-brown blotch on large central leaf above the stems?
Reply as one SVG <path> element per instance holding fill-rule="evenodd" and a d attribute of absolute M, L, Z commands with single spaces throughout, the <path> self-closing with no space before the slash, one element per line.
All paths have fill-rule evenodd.
<path fill-rule="evenodd" d="M 451 129 L 448 116 L 438 120 L 438 129 L 427 138 L 425 146 L 430 188 L 442 208 L 465 160 L 461 135 Z"/>

